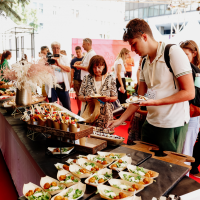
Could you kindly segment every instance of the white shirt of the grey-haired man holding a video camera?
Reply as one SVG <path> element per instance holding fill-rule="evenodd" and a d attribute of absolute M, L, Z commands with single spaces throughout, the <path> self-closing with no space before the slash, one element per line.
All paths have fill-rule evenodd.
<path fill-rule="evenodd" d="M 70 61 L 67 58 L 67 56 L 60 54 L 59 61 L 61 65 L 70 67 Z M 70 72 L 66 72 L 62 70 L 60 67 L 56 65 L 52 65 L 52 68 L 54 69 L 54 74 L 57 79 L 57 83 L 65 83 L 65 91 L 70 90 Z M 48 85 L 45 85 L 45 90 L 48 94 L 48 97 L 51 98 L 51 87 Z"/>

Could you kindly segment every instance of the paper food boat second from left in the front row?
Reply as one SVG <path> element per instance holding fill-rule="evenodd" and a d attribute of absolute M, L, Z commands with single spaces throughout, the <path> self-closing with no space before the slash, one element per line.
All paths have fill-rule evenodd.
<path fill-rule="evenodd" d="M 40 179 L 40 186 L 42 187 L 42 189 L 43 189 L 44 191 L 48 192 L 48 193 L 51 194 L 51 195 L 55 195 L 55 194 L 58 194 L 59 192 L 61 192 L 62 190 L 60 190 L 60 189 L 57 189 L 57 190 L 54 190 L 54 191 L 47 191 L 47 190 L 44 189 L 44 185 L 45 185 L 46 183 L 51 184 L 52 182 L 56 182 L 56 183 L 57 183 L 57 186 L 60 186 L 60 187 L 63 188 L 62 190 L 64 190 L 64 189 L 66 188 L 65 184 L 62 184 L 62 183 L 60 183 L 59 181 L 57 181 L 56 179 L 51 178 L 51 177 L 49 177 L 49 176 L 45 176 L 45 177 L 42 177 L 42 178 Z"/>

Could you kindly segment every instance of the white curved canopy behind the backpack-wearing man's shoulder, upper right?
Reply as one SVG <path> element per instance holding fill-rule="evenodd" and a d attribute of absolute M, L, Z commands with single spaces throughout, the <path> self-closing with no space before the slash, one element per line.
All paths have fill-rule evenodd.
<path fill-rule="evenodd" d="M 171 44 L 179 44 L 182 41 L 193 40 L 198 45 L 200 44 L 200 24 L 197 20 L 191 20 L 185 28 L 171 38 L 168 42 Z"/>

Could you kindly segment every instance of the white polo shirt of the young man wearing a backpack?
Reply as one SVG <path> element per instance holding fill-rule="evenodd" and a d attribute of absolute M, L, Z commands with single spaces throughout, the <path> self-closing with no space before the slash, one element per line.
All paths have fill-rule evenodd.
<path fill-rule="evenodd" d="M 156 58 L 150 63 L 147 56 L 143 70 L 140 72 L 140 81 L 147 84 L 148 91 L 155 94 L 154 99 L 169 97 L 180 90 L 177 78 L 192 73 L 189 60 L 183 50 L 173 45 L 169 51 L 170 65 L 175 75 L 176 89 L 173 75 L 169 71 L 164 59 L 165 43 L 159 43 Z M 162 128 L 184 126 L 190 119 L 188 101 L 162 105 L 147 106 L 147 121 L 149 124 Z"/>

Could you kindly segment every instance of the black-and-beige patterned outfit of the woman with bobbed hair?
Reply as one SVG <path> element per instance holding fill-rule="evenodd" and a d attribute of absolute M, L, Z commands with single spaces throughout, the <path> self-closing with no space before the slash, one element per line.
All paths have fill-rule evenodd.
<path fill-rule="evenodd" d="M 97 90 L 95 87 L 94 76 L 90 74 L 84 76 L 81 88 L 79 91 L 80 96 L 92 96 L 97 94 Z M 100 95 L 108 96 L 108 97 L 116 97 L 117 96 L 117 88 L 116 82 L 111 75 L 108 75 L 105 78 L 103 85 L 100 88 Z M 105 102 L 105 104 L 100 104 L 100 115 L 95 121 L 94 125 L 97 127 L 106 128 L 108 121 L 113 120 L 113 104 L 109 102 Z"/>

